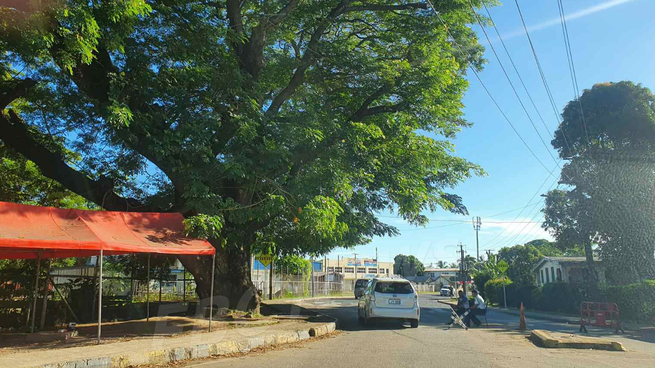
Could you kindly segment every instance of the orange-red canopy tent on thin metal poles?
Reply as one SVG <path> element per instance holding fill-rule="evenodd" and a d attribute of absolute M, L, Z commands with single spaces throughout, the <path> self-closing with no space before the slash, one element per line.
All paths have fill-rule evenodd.
<path fill-rule="evenodd" d="M 0 202 L 0 259 L 39 259 L 35 280 L 32 331 L 39 289 L 41 258 L 99 256 L 98 343 L 102 308 L 102 257 L 126 253 L 170 255 L 212 255 L 215 248 L 206 240 L 184 234 L 180 213 L 107 212 L 66 210 Z M 148 275 L 150 257 L 148 257 Z M 212 267 L 214 280 L 214 267 Z M 149 288 L 148 288 L 149 291 Z M 211 287 L 214 297 L 214 282 Z M 147 318 L 150 313 L 148 297 Z M 210 303 L 210 331 L 212 331 Z"/>

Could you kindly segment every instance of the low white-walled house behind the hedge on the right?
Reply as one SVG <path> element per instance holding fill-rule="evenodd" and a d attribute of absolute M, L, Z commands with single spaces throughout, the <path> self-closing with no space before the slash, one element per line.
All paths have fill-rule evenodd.
<path fill-rule="evenodd" d="M 605 281 L 605 268 L 597 257 L 593 258 L 594 268 L 600 282 Z M 587 259 L 585 257 L 543 257 L 533 268 L 539 286 L 552 282 L 584 282 Z"/>

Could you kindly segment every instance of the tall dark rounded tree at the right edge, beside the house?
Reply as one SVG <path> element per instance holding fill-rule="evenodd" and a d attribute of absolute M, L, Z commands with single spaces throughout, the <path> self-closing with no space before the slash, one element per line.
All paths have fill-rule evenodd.
<path fill-rule="evenodd" d="M 615 281 L 654 276 L 655 96 L 641 84 L 599 83 L 562 117 L 552 143 L 569 160 L 569 187 L 548 194 L 544 227 L 558 245 L 584 246 L 589 270 L 597 244 Z"/>

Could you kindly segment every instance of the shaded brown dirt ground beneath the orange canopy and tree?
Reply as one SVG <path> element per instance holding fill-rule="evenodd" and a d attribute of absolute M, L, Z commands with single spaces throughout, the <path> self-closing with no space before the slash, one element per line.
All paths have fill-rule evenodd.
<path fill-rule="evenodd" d="M 279 320 L 276 318 L 224 318 L 212 322 L 212 331 L 220 329 L 236 329 L 257 327 L 262 325 L 273 325 L 278 323 L 291 323 L 290 320 Z M 297 321 L 295 321 L 297 322 Z M 62 341 L 52 340 L 42 342 L 30 342 L 26 340 L 29 334 L 26 333 L 2 333 L 0 334 L 0 356 L 41 348 L 68 348 L 73 346 L 84 346 L 96 344 L 98 325 L 96 323 L 84 323 L 76 326 L 78 336 Z M 50 331 L 50 334 L 54 331 Z M 103 343 L 116 341 L 129 341 L 133 339 L 153 339 L 178 337 L 195 333 L 209 332 L 209 320 L 193 317 L 153 317 L 150 321 L 133 320 L 126 322 L 104 322 L 102 323 L 101 337 Z"/>

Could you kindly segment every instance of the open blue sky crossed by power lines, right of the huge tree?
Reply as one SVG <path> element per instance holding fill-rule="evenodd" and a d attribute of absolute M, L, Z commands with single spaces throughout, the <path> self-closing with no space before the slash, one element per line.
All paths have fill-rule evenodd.
<path fill-rule="evenodd" d="M 565 103 L 573 99 L 574 90 L 559 24 L 557 1 L 519 0 L 519 5 L 559 113 Z M 563 0 L 563 5 L 567 14 L 578 86 L 581 89 L 595 83 L 624 80 L 655 88 L 652 69 L 652 60 L 655 59 L 655 35 L 652 28 L 655 1 Z M 557 120 L 536 69 L 514 0 L 506 0 L 504 5 L 491 8 L 490 12 L 548 131 L 538 119 L 495 31 L 489 28 L 487 33 L 550 149 L 550 139 L 557 127 Z M 521 109 L 480 28 L 473 28 L 487 48 L 485 58 L 489 62 L 480 73 L 483 83 L 534 153 L 552 170 L 555 162 Z M 453 190 L 453 193 L 464 198 L 470 216 L 452 215 L 444 211 L 425 213 L 430 219 L 451 221 L 431 221 L 423 229 L 394 218 L 394 214 L 383 213 L 381 215 L 390 217 L 381 219 L 398 227 L 402 232 L 400 236 L 374 238 L 370 244 L 354 250 L 335 249 L 328 256 L 330 259 L 336 259 L 337 255 L 352 257 L 353 252 L 359 254 L 358 258 L 374 257 L 377 248 L 380 261 L 392 261 L 396 254 L 403 253 L 416 255 L 426 265 L 440 259 L 454 262 L 457 260 L 455 251 L 459 242 L 466 246 L 468 253 L 476 254 L 476 234 L 470 222 L 472 216 L 479 216 L 482 221 L 479 232 L 481 254 L 483 249 L 497 250 L 502 246 L 522 244 L 535 238 L 550 238 L 538 223 L 542 220 L 540 210 L 543 206 L 540 202 L 543 198 L 538 194 L 546 193 L 556 185 L 555 178 L 521 143 L 472 73 L 468 79 L 470 88 L 464 98 L 464 111 L 466 119 L 474 122 L 474 126 L 461 132 L 455 139 L 456 153 L 480 164 L 488 173 L 486 177 L 475 177 Z M 554 150 L 550 149 L 550 152 L 557 158 Z M 559 168 L 553 174 L 559 177 Z M 542 183 L 545 184 L 540 189 Z M 535 193 L 538 194 L 531 200 Z M 533 205 L 525 208 L 522 213 L 521 210 L 508 212 L 527 204 Z M 503 214 L 496 215 L 498 213 Z M 496 216 L 489 217 L 492 215 Z"/>

